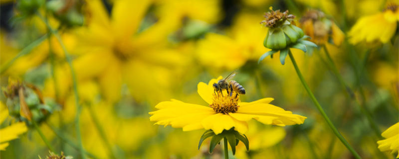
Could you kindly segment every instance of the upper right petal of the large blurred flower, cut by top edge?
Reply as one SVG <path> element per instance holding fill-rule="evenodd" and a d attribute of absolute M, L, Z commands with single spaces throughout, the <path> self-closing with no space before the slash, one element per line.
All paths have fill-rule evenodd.
<path fill-rule="evenodd" d="M 130 38 L 138 29 L 150 0 L 115 0 L 112 8 L 114 33 L 119 38 Z"/>

